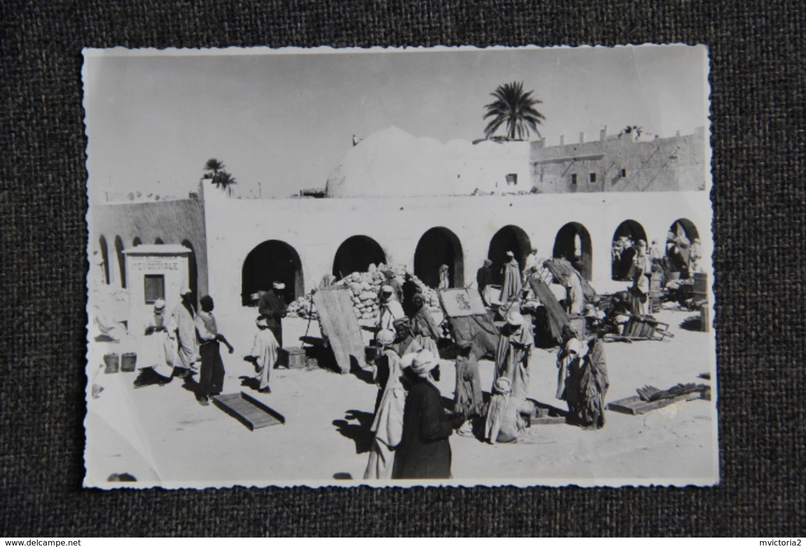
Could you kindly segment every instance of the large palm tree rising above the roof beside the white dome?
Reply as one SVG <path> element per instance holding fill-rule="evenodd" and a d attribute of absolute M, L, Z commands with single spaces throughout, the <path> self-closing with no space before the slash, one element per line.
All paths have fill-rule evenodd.
<path fill-rule="evenodd" d="M 542 124 L 541 120 L 546 119 L 546 116 L 534 108 L 534 105 L 541 104 L 542 101 L 532 98 L 532 93 L 524 93 L 522 81 L 496 87 L 491 93 L 496 100 L 484 106 L 487 109 L 484 119 L 492 118 L 487 127 L 484 127 L 484 136 L 489 139 L 504 124 L 506 136 L 511 140 L 526 139 L 530 128 L 540 136 L 538 124 Z"/>

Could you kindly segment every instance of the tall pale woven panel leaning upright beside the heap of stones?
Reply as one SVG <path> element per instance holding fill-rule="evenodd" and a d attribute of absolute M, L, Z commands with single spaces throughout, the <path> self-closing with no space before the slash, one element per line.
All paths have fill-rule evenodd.
<path fill-rule="evenodd" d="M 353 311 L 351 291 L 346 286 L 327 287 L 314 293 L 314 305 L 319 311 L 322 332 L 342 374 L 351 369 L 351 361 L 364 365 L 364 340 Z"/>

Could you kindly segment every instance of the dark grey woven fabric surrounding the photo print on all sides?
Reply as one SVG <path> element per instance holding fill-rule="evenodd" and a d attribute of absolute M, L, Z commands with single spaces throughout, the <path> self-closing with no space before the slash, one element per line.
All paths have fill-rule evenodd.
<path fill-rule="evenodd" d="M 803 536 L 804 31 L 796 1 L 2 2 L 0 536 Z M 81 489 L 82 47 L 644 42 L 711 52 L 721 486 Z"/>

